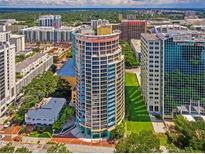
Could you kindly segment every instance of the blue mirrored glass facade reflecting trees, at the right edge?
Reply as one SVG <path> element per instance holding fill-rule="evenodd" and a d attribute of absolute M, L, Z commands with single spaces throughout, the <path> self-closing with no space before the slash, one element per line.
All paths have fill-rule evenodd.
<path fill-rule="evenodd" d="M 205 42 L 201 35 L 189 36 L 164 41 L 165 113 L 173 112 L 177 106 L 189 106 L 190 102 L 195 103 L 193 106 L 198 102 L 205 105 Z"/>

